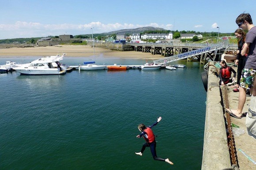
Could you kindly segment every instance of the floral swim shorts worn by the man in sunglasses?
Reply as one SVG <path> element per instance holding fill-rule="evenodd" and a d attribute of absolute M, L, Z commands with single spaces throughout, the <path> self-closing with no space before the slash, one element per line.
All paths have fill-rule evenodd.
<path fill-rule="evenodd" d="M 256 69 L 243 69 L 240 79 L 240 86 L 245 89 L 251 89 L 251 87 L 253 87 L 255 74 Z"/>

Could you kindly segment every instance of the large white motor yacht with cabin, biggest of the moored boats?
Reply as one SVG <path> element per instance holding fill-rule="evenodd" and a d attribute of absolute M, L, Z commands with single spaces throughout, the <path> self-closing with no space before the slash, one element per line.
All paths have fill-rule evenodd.
<path fill-rule="evenodd" d="M 60 67 L 60 60 L 63 56 L 47 56 L 34 60 L 30 63 L 23 64 L 14 69 L 23 75 L 61 75 L 67 71 Z"/>

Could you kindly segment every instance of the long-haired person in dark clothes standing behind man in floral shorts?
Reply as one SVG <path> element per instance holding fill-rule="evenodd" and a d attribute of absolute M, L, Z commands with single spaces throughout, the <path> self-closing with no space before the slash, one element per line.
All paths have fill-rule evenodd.
<path fill-rule="evenodd" d="M 240 78 L 241 78 L 241 73 L 242 73 L 242 70 L 245 67 L 245 62 L 246 62 L 246 59 L 247 59 L 246 56 L 241 55 L 241 50 L 242 50 L 242 47 L 245 43 L 246 33 L 242 29 L 237 29 L 235 31 L 235 36 L 237 37 L 237 40 L 238 40 L 237 59 L 235 61 L 235 64 L 237 65 L 237 84 L 233 85 L 231 87 L 236 87 L 233 91 L 234 92 L 239 92 L 238 87 L 239 87 L 239 82 L 240 82 Z"/>

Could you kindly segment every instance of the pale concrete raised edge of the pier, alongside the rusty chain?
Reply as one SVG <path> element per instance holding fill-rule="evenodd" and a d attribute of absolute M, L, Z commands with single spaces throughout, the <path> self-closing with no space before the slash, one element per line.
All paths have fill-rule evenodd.
<path fill-rule="evenodd" d="M 214 65 L 211 61 L 209 65 Z M 207 104 L 203 139 L 203 159 L 201 170 L 223 170 L 230 167 L 226 127 L 216 69 L 208 69 Z"/>

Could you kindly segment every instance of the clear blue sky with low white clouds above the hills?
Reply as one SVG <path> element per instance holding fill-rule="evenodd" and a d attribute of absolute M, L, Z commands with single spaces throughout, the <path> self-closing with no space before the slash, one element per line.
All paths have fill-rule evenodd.
<path fill-rule="evenodd" d="M 241 13 L 256 22 L 255 7 L 255 0 L 0 0 L 0 40 L 145 26 L 233 33 Z"/>

